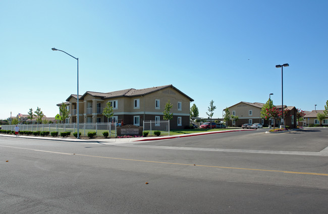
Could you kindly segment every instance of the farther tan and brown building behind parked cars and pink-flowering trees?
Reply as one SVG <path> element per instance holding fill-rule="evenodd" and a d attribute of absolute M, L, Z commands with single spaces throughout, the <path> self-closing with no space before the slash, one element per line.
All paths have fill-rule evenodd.
<path fill-rule="evenodd" d="M 244 123 L 260 123 L 263 126 L 268 126 L 269 123 L 271 125 L 275 124 L 274 120 L 266 120 L 264 118 L 261 118 L 261 109 L 263 107 L 264 103 L 248 103 L 248 102 L 239 102 L 235 105 L 232 105 L 228 107 L 230 116 L 238 116 L 238 121 L 230 120 L 228 122 L 229 126 L 238 126 L 240 127 Z M 281 109 L 280 106 L 276 106 L 278 109 Z M 284 110 L 288 109 L 289 114 L 285 118 L 286 122 L 285 125 L 290 126 L 291 128 L 295 128 L 297 126 L 297 120 L 296 120 L 296 113 L 297 109 L 294 106 L 285 106 Z M 226 109 L 224 109 L 225 111 Z M 281 124 L 281 118 L 276 119 L 276 126 L 279 126 Z"/>

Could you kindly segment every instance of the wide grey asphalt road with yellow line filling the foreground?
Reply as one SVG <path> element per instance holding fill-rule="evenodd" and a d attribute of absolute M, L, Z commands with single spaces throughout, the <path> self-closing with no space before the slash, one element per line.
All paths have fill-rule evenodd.
<path fill-rule="evenodd" d="M 0 213 L 327 213 L 328 129 L 311 130 L 111 145 L 0 137 Z"/>

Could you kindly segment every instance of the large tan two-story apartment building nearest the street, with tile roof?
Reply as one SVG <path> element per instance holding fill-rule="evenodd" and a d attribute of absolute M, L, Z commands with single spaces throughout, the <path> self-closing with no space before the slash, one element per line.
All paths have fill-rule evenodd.
<path fill-rule="evenodd" d="M 162 120 L 162 112 L 169 100 L 173 104 L 170 110 L 170 113 L 173 113 L 170 128 L 180 129 L 189 126 L 190 102 L 194 100 L 173 85 L 108 93 L 87 91 L 79 97 L 79 115 L 76 108 L 77 95 L 70 95 L 66 99 L 70 110 L 70 118 L 66 122 L 76 123 L 77 116 L 80 123 L 107 122 L 102 111 L 107 102 L 110 102 L 114 116 L 108 120 L 112 122 L 123 120 L 125 124 L 142 126 L 144 120 Z M 58 104 L 60 105 L 62 104 Z"/>

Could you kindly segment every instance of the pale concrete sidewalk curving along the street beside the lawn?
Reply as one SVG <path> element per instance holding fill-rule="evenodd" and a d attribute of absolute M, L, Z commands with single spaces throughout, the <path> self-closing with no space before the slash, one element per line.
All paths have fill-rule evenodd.
<path fill-rule="evenodd" d="M 149 141 L 149 140 L 161 140 L 161 139 L 173 139 L 180 137 L 190 137 L 190 136 L 199 136 L 204 134 L 216 134 L 216 133 L 226 133 L 234 131 L 254 131 L 256 129 L 233 129 L 233 130 L 220 130 L 220 131 L 206 131 L 200 133 L 190 133 L 190 134 L 177 134 L 177 135 L 166 135 L 166 136 L 147 136 L 147 137 L 131 137 L 131 138 L 103 138 L 103 139 L 75 139 L 67 137 L 43 137 L 43 136 L 26 136 L 14 134 L 0 134 L 4 137 L 17 137 L 17 138 L 26 138 L 26 139 L 42 139 L 42 140 L 57 140 L 57 141 L 67 141 L 67 142 L 133 142 L 133 141 Z"/>

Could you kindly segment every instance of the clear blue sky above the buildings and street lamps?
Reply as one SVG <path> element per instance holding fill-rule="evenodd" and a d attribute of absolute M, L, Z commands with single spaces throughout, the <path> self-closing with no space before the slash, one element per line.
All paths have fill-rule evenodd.
<path fill-rule="evenodd" d="M 172 84 L 222 110 L 240 101 L 323 109 L 328 1 L 0 2 L 0 118 L 56 104 L 79 91 Z"/>

